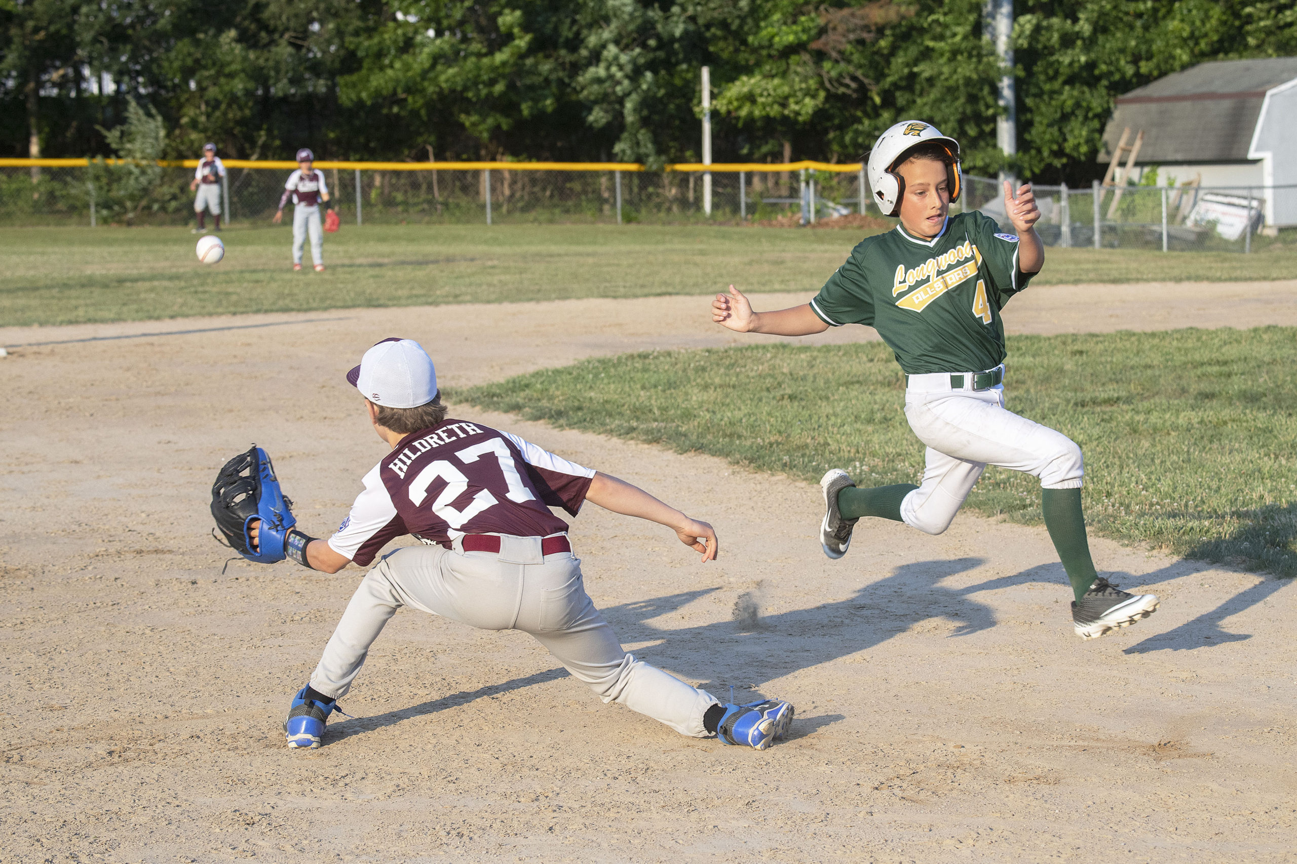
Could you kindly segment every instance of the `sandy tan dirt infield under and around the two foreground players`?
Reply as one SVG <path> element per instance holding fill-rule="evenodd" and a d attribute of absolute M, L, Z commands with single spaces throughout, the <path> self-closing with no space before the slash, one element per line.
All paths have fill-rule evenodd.
<path fill-rule="evenodd" d="M 327 534 L 383 455 L 342 381 L 377 338 L 419 338 L 468 385 L 732 342 L 706 304 L 0 330 L 26 346 L 0 359 L 0 860 L 1297 860 L 1291 582 L 1097 540 L 1100 569 L 1163 604 L 1082 642 L 1043 530 L 863 523 L 830 562 L 804 483 L 467 409 L 717 526 L 706 566 L 595 506 L 573 543 L 628 648 L 722 698 L 794 701 L 792 740 L 684 738 L 603 706 L 525 635 L 402 611 L 344 701 L 357 719 L 287 750 L 288 698 L 361 571 L 222 574 L 222 461 L 265 446 L 302 527 Z M 1032 289 L 1006 321 L 1297 324 L 1297 282 Z"/>

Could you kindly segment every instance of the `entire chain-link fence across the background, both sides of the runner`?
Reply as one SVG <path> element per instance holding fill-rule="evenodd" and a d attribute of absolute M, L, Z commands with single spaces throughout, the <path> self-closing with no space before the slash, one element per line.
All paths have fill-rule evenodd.
<path fill-rule="evenodd" d="M 877 216 L 864 172 L 843 168 L 322 171 L 339 214 L 358 224 L 813 224 L 848 214 Z M 228 168 L 224 220 L 270 225 L 288 174 Z M 192 179 L 191 168 L 153 165 L 0 167 L 0 224 L 191 224 Z M 964 189 L 953 211 L 981 210 L 1009 227 L 999 180 L 965 175 Z M 1096 183 L 1036 185 L 1035 193 L 1036 229 L 1049 246 L 1246 253 L 1276 242 L 1274 214 L 1297 215 L 1297 187 L 1105 189 Z"/>

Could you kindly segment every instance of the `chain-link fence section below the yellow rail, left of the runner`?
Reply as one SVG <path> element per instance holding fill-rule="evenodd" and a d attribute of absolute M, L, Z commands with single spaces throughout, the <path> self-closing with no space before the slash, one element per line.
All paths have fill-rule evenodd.
<path fill-rule="evenodd" d="M 856 172 L 709 172 L 708 214 L 702 171 L 320 170 L 339 215 L 359 224 L 737 223 L 803 212 L 812 188 L 818 212 L 859 207 Z M 228 168 L 224 220 L 270 225 L 288 174 Z M 161 166 L 0 167 L 0 224 L 183 225 L 192 180 Z"/>

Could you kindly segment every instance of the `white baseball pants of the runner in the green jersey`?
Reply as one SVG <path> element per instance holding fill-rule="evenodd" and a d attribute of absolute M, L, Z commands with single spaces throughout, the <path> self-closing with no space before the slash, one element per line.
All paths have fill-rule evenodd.
<path fill-rule="evenodd" d="M 1003 386 L 956 390 L 947 373 L 909 376 L 905 420 L 927 444 L 927 464 L 922 484 L 901 501 L 900 516 L 925 534 L 949 527 L 987 465 L 1039 477 L 1043 488 L 1080 488 L 1080 447 L 1005 409 Z"/>

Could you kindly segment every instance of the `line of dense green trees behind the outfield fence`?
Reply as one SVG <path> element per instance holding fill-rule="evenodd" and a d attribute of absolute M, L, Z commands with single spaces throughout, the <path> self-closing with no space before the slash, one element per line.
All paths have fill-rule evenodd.
<path fill-rule="evenodd" d="M 965 166 L 1088 183 L 1113 98 L 1209 60 L 1297 54 L 1292 0 L 1017 0 L 1018 155 L 982 0 L 0 0 L 0 153 L 853 162 L 898 119 Z"/>

